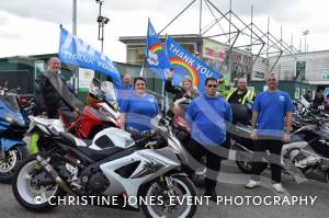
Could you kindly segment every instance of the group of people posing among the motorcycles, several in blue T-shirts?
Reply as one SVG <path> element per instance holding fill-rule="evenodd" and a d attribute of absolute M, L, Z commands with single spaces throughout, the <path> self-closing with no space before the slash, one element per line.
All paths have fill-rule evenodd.
<path fill-rule="evenodd" d="M 38 113 L 49 118 L 58 117 L 61 104 L 72 111 L 79 110 L 59 71 L 60 61 L 54 57 L 48 61 L 48 70 L 36 79 L 35 100 Z M 252 164 L 256 175 L 252 175 L 246 187 L 253 188 L 259 185 L 260 162 L 263 151 L 269 150 L 273 188 L 279 193 L 284 192 L 281 185 L 280 153 L 283 142 L 290 140 L 294 106 L 290 95 L 277 89 L 275 74 L 268 76 L 268 90 L 257 96 L 247 89 L 247 80 L 240 78 L 237 88 L 227 92 L 225 97 L 219 90 L 223 78 L 222 80 L 207 78 L 204 83 L 205 92 L 200 93 L 190 77 L 184 77 L 180 85 L 173 85 L 173 69 L 170 69 L 164 88 L 167 92 L 173 94 L 172 113 L 183 116 L 191 127 L 191 140 L 186 149 L 196 161 L 205 157 L 207 168 L 205 195 L 217 196 L 215 187 L 220 160 L 227 154 L 225 149 L 229 138 L 227 129 L 235 123 L 231 105 L 247 103 L 252 105 L 250 138 L 256 141 L 258 152 Z M 132 85 L 132 77 L 126 73 L 117 95 L 121 128 L 134 128 L 138 131 L 150 129 L 150 119 L 159 113 L 159 107 L 157 99 L 147 92 L 145 78 L 136 77 Z M 181 99 L 189 100 L 189 104 L 183 108 L 175 104 Z M 192 174 L 193 169 L 186 169 L 185 172 Z"/>

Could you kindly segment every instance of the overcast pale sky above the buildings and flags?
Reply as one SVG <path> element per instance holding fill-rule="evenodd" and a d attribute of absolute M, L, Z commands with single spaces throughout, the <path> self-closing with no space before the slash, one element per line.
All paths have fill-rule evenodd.
<path fill-rule="evenodd" d="M 111 19 L 105 26 L 104 53 L 112 60 L 125 61 L 125 46 L 120 36 L 146 35 L 147 19 L 150 18 L 156 31 L 164 27 L 192 0 L 105 0 L 103 15 Z M 229 0 L 212 0 L 226 12 Z M 200 1 L 177 20 L 167 34 L 197 33 Z M 254 23 L 270 31 L 290 44 L 299 47 L 303 31 L 309 30 L 309 50 L 329 49 L 329 1 L 328 0 L 232 0 L 232 11 L 250 23 L 250 5 L 254 7 Z M 78 0 L 78 36 L 100 48 L 98 42 L 98 8 L 94 0 Z M 204 7 L 204 25 L 212 20 Z M 0 57 L 57 53 L 59 24 L 71 31 L 72 0 L 0 0 Z M 214 30 L 214 31 L 219 31 Z"/>

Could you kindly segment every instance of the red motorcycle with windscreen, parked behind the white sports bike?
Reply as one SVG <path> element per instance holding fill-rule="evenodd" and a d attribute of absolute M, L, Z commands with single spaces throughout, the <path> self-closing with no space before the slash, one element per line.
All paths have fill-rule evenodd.
<path fill-rule="evenodd" d="M 65 112 L 61 111 L 59 114 L 67 131 L 81 139 L 92 139 L 104 128 L 120 128 L 115 92 L 111 92 L 109 97 L 98 88 L 90 89 L 87 105 L 73 122 L 70 122 Z"/>

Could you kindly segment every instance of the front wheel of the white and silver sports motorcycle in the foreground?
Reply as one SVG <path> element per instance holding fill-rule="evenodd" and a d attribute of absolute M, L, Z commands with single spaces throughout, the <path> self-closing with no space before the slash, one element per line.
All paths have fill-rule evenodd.
<path fill-rule="evenodd" d="M 191 180 L 183 175 L 167 176 L 167 180 L 170 180 L 171 183 L 169 190 L 163 188 L 159 181 L 154 181 L 144 186 L 140 196 L 146 199 L 151 197 L 158 199 L 156 204 L 141 204 L 145 216 L 149 218 L 193 217 L 196 205 L 189 204 L 188 198 L 195 197 L 196 192 Z M 180 199 L 180 202 L 175 199 Z"/>

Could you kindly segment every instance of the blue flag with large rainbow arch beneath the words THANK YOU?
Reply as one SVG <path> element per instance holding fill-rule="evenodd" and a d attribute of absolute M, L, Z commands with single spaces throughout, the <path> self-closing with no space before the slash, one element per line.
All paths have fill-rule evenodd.
<path fill-rule="evenodd" d="M 205 90 L 204 82 L 206 78 L 219 78 L 220 72 L 207 67 L 203 61 L 186 51 L 172 38 L 168 37 L 166 47 L 170 65 L 174 69 L 173 83 L 175 85 L 182 82 L 182 79 L 185 76 L 189 76 L 191 77 L 194 87 L 196 87 L 198 91 L 203 92 Z"/>

